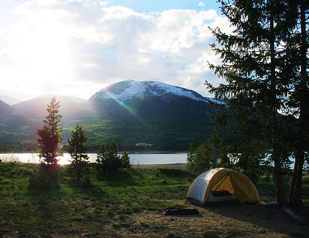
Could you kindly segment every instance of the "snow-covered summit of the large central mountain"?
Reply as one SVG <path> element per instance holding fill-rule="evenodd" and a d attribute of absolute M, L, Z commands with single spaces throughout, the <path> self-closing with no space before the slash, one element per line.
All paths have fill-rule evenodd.
<path fill-rule="evenodd" d="M 202 95 L 193 90 L 173 86 L 170 84 L 156 81 L 134 81 L 126 80 L 109 85 L 108 87 L 95 93 L 93 97 L 100 99 L 118 99 L 127 100 L 133 98 L 145 98 L 151 96 L 160 96 L 167 98 L 169 96 L 186 97 L 195 101 L 205 101 Z"/>

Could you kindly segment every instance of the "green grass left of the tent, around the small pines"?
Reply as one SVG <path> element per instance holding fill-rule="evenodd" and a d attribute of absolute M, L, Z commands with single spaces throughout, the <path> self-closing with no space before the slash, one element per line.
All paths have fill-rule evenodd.
<path fill-rule="evenodd" d="M 185 198 L 190 172 L 178 169 L 134 168 L 111 173 L 104 180 L 92 174 L 91 185 L 78 186 L 65 174 L 59 190 L 29 190 L 28 176 L 34 164 L 0 163 L 0 237 L 5 234 L 87 233 L 117 237 L 117 228 L 129 227 L 128 212 L 161 211 L 178 206 L 172 200 Z M 168 181 L 163 185 L 162 181 Z M 111 230 L 102 229 L 102 224 Z M 146 227 L 147 223 L 141 222 Z"/>

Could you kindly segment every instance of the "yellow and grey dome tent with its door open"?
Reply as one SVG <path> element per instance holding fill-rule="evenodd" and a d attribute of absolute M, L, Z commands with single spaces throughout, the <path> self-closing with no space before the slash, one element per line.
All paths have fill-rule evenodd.
<path fill-rule="evenodd" d="M 200 206 L 259 202 L 250 178 L 228 168 L 213 168 L 195 178 L 186 201 Z"/>

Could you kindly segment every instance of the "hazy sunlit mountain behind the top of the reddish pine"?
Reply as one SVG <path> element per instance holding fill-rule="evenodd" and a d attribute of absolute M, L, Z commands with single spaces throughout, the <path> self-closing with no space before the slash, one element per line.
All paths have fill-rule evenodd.
<path fill-rule="evenodd" d="M 46 94 L 39 97 L 26 100 L 13 105 L 13 108 L 25 113 L 29 118 L 41 121 L 47 114 L 46 106 L 50 99 L 56 96 L 56 100 L 60 101 L 60 114 L 63 121 L 74 120 L 77 117 L 93 116 L 95 113 L 91 110 L 91 105 L 84 99 L 72 97 Z"/>

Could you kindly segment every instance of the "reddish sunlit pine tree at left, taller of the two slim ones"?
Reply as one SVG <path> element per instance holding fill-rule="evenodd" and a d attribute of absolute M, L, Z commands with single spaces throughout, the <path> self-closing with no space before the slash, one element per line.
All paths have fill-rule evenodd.
<path fill-rule="evenodd" d="M 37 130 L 39 157 L 42 159 L 41 167 L 50 176 L 57 176 L 57 168 L 59 167 L 57 157 L 63 155 L 59 148 L 62 141 L 59 107 L 60 102 L 57 102 L 56 97 L 53 97 L 50 104 L 47 105 L 48 115 L 43 120 L 43 128 Z"/>

